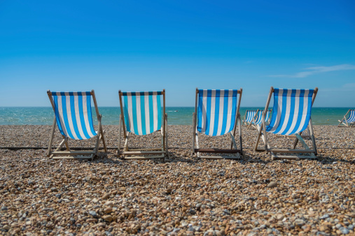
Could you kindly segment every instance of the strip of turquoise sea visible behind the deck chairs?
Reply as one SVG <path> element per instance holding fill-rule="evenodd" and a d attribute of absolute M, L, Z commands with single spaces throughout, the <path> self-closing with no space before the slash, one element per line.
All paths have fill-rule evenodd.
<path fill-rule="evenodd" d="M 240 114 L 244 117 L 246 110 L 263 108 L 241 108 Z M 337 125 L 338 119 L 342 119 L 350 108 L 312 108 L 313 124 Z M 193 123 L 193 112 L 195 108 L 166 108 L 168 124 L 190 125 Z M 93 117 L 96 119 L 95 109 L 92 109 Z M 102 107 L 99 108 L 102 114 L 102 124 L 118 125 L 120 108 Z M 52 108 L 0 108 L 0 125 L 23 125 L 23 124 L 53 124 Z"/>

